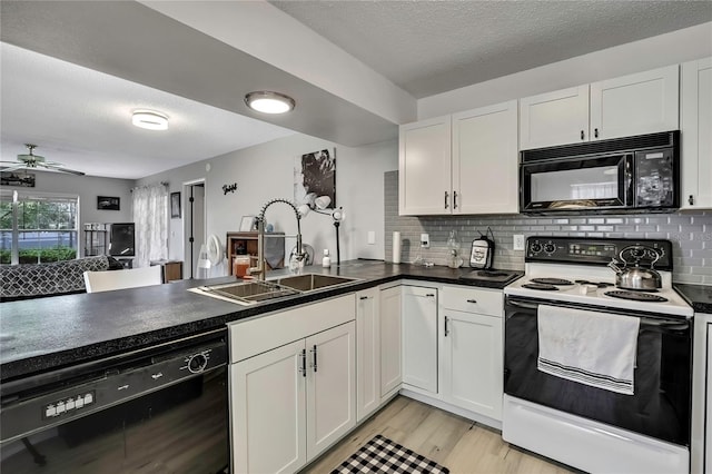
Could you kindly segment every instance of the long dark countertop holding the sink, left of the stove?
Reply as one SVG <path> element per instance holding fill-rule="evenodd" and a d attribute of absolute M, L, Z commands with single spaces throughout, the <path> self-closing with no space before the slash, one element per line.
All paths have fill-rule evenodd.
<path fill-rule="evenodd" d="M 229 322 L 399 279 L 492 288 L 505 286 L 459 279 L 469 271 L 472 268 L 426 268 L 378 260 L 350 260 L 332 268 L 313 266 L 306 267 L 304 273 L 342 275 L 358 280 L 253 306 L 187 292 L 207 283 L 234 282 L 233 277 L 1 303 L 0 381 L 148 347 L 216 329 Z M 288 275 L 288 271 L 273 271 L 268 278 L 280 274 Z"/>

